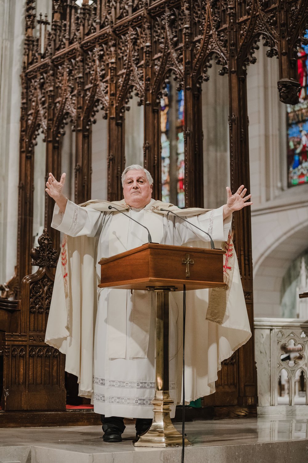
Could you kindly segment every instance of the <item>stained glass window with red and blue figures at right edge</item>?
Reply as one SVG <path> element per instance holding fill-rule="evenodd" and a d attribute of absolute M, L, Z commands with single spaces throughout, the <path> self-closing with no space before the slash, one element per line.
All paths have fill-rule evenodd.
<path fill-rule="evenodd" d="M 308 33 L 305 35 L 308 38 Z M 308 45 L 297 52 L 297 72 L 300 82 L 299 103 L 287 105 L 288 125 L 288 184 L 308 183 Z"/>

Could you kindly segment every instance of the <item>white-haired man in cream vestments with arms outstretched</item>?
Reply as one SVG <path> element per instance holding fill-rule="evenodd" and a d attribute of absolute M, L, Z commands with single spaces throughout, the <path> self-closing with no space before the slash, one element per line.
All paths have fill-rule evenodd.
<path fill-rule="evenodd" d="M 229 235 L 232 213 L 252 204 L 248 201 L 251 195 L 245 196 L 247 190 L 243 185 L 235 194 L 227 187 L 227 202 L 220 208 L 181 210 L 152 199 L 150 172 L 134 164 L 122 174 L 123 200 L 112 203 L 91 200 L 77 206 L 62 194 L 64 181 L 65 174 L 58 182 L 50 173 L 46 183 L 46 192 L 56 202 L 51 225 L 65 236 L 45 341 L 66 354 L 66 371 L 78 376 L 79 395 L 92 397 L 94 411 L 102 415 L 103 440 L 120 442 L 125 428 L 123 417 L 136 418 L 138 435 L 151 425 L 155 391 L 155 311 L 151 292 L 109 288 L 97 291 L 101 272 L 98 262 L 102 257 L 119 254 L 148 241 L 143 227 L 118 211 L 111 212 L 108 206 L 115 205 L 147 226 L 153 242 L 208 247 L 209 238 L 205 233 L 161 208 L 177 211 L 210 233 L 218 242 L 217 247 L 223 242 L 228 251 L 230 260 L 224 264 L 226 287 L 221 290 L 224 291 L 221 299 L 224 307 L 218 307 L 219 290 L 215 298 L 213 290 L 207 289 L 187 294 L 190 310 L 187 314 L 185 388 L 187 401 L 190 401 L 215 391 L 221 362 L 251 336 Z M 169 390 L 175 401 L 171 417 L 181 401 L 181 310 L 179 293 L 170 294 Z"/>

